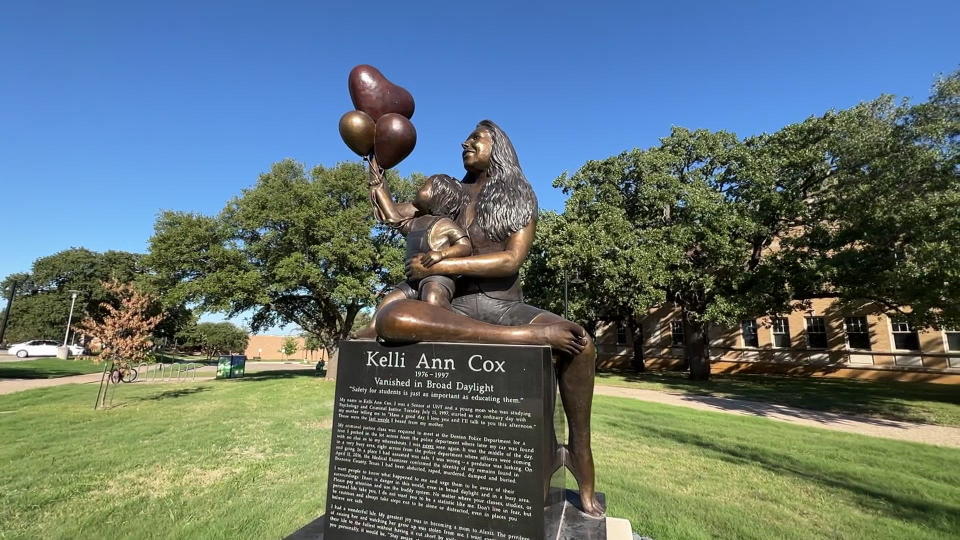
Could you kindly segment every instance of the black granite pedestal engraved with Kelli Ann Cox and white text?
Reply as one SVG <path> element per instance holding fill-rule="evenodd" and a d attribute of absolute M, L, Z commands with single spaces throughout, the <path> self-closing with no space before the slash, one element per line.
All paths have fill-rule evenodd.
<path fill-rule="evenodd" d="M 288 538 L 607 537 L 566 489 L 548 347 L 354 340 L 339 357 L 326 514 Z"/>

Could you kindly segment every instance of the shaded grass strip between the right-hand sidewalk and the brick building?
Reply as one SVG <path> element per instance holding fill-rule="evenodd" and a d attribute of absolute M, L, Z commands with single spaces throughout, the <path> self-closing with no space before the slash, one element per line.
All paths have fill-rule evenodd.
<path fill-rule="evenodd" d="M 960 386 L 778 375 L 597 373 L 597 384 L 763 401 L 817 411 L 960 426 Z"/>

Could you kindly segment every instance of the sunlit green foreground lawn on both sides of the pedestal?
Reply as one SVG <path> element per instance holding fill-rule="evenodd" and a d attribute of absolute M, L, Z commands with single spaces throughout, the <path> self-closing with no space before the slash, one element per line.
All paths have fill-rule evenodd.
<path fill-rule="evenodd" d="M 333 385 L 0 396 L 0 538 L 279 538 L 323 512 Z M 597 397 L 609 513 L 656 540 L 955 538 L 960 450 Z M 569 475 L 568 475 L 569 478 Z"/>

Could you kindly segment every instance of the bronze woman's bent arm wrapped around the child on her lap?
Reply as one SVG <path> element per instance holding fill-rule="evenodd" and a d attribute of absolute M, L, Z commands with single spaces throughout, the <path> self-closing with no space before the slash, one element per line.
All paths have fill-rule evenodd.
<path fill-rule="evenodd" d="M 433 275 L 464 275 L 472 277 L 505 277 L 520 271 L 520 265 L 527 258 L 533 236 L 537 231 L 536 220 L 510 235 L 503 251 L 472 255 L 459 259 L 444 259 L 426 268 L 420 261 L 420 255 L 407 261 L 407 277 L 422 279 Z"/>

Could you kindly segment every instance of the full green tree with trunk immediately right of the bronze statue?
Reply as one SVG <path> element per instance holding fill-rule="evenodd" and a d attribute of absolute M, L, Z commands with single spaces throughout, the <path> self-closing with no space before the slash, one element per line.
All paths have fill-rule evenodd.
<path fill-rule="evenodd" d="M 764 249 L 790 225 L 792 186 L 774 187 L 758 141 L 674 128 L 659 146 L 589 162 L 555 185 L 595 310 L 631 322 L 672 302 L 689 328 L 691 376 L 709 374 L 709 325 L 788 298 Z M 603 305 L 606 304 L 606 305 Z"/>

